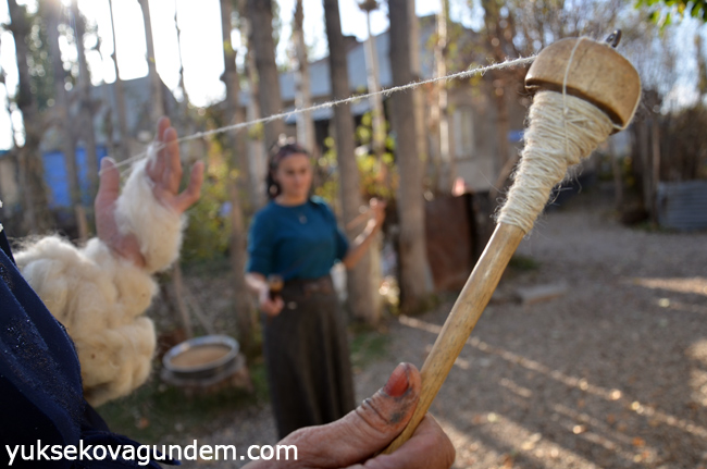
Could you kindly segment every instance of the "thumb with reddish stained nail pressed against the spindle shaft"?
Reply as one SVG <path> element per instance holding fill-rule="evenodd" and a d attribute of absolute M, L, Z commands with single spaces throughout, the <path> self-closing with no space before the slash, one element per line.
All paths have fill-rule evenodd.
<path fill-rule="evenodd" d="M 296 444 L 310 467 L 347 467 L 383 449 L 410 420 L 420 395 L 420 373 L 400 363 L 385 387 L 343 419 L 298 430 L 283 442 Z"/>

